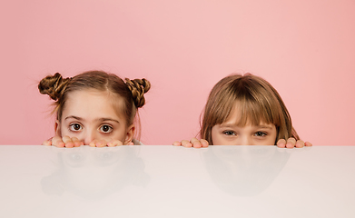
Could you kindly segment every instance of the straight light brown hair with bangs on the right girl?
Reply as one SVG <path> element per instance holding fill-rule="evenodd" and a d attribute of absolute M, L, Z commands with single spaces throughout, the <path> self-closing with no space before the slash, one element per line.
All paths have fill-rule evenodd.
<path fill-rule="evenodd" d="M 212 127 L 226 122 L 236 104 L 239 111 L 237 125 L 245 126 L 248 122 L 252 125 L 261 122 L 275 124 L 275 144 L 279 139 L 300 139 L 280 94 L 266 80 L 253 74 L 232 74 L 214 85 L 202 114 L 201 138 L 213 144 Z"/>

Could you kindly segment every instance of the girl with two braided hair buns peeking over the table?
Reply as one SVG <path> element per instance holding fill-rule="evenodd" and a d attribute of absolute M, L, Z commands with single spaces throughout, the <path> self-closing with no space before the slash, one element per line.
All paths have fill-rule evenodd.
<path fill-rule="evenodd" d="M 146 79 L 121 79 L 115 74 L 90 71 L 73 78 L 48 75 L 38 84 L 41 94 L 54 102 L 55 136 L 44 141 L 57 147 L 141 144 L 138 108 L 151 84 Z M 134 118 L 137 116 L 137 122 Z M 138 134 L 137 134 L 138 133 Z"/>

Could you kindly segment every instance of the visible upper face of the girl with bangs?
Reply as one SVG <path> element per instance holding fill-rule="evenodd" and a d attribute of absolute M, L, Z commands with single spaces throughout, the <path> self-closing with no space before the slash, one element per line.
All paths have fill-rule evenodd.
<path fill-rule="evenodd" d="M 277 135 L 274 124 L 246 124 L 238 126 L 238 114 L 232 113 L 229 120 L 212 127 L 214 145 L 274 145 Z"/>

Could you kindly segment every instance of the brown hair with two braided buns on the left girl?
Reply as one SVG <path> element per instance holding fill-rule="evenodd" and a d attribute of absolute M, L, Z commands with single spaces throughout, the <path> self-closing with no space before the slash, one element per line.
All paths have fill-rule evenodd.
<path fill-rule="evenodd" d="M 44 77 L 38 84 L 41 94 L 48 94 L 54 101 L 54 113 L 60 122 L 67 99 L 67 94 L 87 88 L 98 91 L 109 91 L 118 94 L 123 99 L 121 113 L 125 117 L 126 125 L 133 124 L 137 114 L 137 108 L 145 104 L 144 94 L 149 91 L 151 84 L 146 79 L 123 79 L 115 74 L 108 74 L 103 71 L 89 71 L 77 74 L 73 78 L 63 78 L 61 74 L 55 73 Z M 139 123 L 139 119 L 138 119 Z M 139 134 L 138 134 L 139 135 Z"/>

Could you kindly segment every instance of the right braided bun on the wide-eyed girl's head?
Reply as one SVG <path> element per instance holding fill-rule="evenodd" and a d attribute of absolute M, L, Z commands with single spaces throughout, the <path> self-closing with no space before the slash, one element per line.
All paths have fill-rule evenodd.
<path fill-rule="evenodd" d="M 151 83 L 146 79 L 130 80 L 125 78 L 125 84 L 131 90 L 134 105 L 139 108 L 145 104 L 144 94 L 151 88 Z"/>

